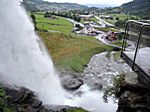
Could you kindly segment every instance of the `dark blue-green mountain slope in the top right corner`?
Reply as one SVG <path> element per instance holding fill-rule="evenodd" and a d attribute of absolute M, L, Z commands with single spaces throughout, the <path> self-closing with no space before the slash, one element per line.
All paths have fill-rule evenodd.
<path fill-rule="evenodd" d="M 121 6 L 125 13 L 131 13 L 141 16 L 150 15 L 150 0 L 133 0 L 132 2 L 125 3 Z"/>

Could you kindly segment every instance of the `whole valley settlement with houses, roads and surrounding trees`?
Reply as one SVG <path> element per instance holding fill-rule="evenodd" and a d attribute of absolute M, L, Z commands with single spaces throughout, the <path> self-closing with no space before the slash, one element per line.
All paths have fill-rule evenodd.
<path fill-rule="evenodd" d="M 124 35 L 124 26 L 120 25 L 125 24 L 124 20 L 120 20 L 121 16 L 126 15 L 123 13 L 119 13 L 117 16 L 111 16 L 109 14 L 98 13 L 96 11 L 72 12 L 63 10 L 46 12 L 45 15 L 45 17 L 49 19 L 63 17 L 73 24 L 73 33 L 82 36 L 93 36 L 100 41 L 104 40 L 107 43 L 112 43 L 117 40 L 120 41 Z"/>

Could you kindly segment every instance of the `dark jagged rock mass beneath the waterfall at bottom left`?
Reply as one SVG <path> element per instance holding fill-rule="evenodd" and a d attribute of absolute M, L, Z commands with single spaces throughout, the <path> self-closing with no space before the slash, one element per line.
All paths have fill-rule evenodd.
<path fill-rule="evenodd" d="M 42 101 L 38 100 L 34 92 L 26 89 L 5 88 L 8 97 L 8 105 L 16 112 L 37 112 L 43 111 Z M 45 111 L 43 111 L 45 112 Z"/>

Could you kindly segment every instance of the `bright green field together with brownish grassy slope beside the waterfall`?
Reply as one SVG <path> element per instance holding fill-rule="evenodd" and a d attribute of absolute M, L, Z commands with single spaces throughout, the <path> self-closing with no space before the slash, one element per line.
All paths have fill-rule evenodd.
<path fill-rule="evenodd" d="M 112 50 L 94 37 L 72 33 L 73 24 L 62 17 L 44 18 L 43 13 L 35 17 L 37 32 L 58 69 L 82 72 L 94 54 Z"/>

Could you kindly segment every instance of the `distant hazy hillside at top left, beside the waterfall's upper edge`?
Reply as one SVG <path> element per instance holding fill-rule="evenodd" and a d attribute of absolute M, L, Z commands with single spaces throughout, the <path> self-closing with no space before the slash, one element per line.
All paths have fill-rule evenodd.
<path fill-rule="evenodd" d="M 79 5 L 76 3 L 56 3 L 47 2 L 43 0 L 23 0 L 22 4 L 29 11 L 40 10 L 40 11 L 56 11 L 56 10 L 77 10 L 86 9 L 87 6 Z"/>

